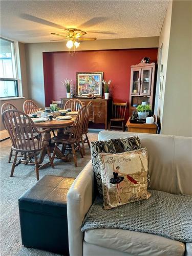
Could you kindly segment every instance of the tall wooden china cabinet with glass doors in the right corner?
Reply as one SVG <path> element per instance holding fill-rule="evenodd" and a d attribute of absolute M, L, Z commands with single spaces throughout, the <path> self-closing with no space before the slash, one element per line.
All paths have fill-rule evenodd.
<path fill-rule="evenodd" d="M 131 66 L 129 114 L 136 110 L 134 104 L 147 101 L 154 104 L 155 63 L 139 63 Z"/>

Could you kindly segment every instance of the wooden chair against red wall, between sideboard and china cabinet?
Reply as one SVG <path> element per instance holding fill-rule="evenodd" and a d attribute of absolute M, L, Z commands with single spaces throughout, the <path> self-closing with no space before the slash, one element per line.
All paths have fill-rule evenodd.
<path fill-rule="evenodd" d="M 113 102 L 112 105 L 112 118 L 110 118 L 109 123 L 109 130 L 111 127 L 113 128 L 122 128 L 124 132 L 124 117 L 125 117 L 125 111 L 126 111 L 127 102 L 119 103 L 119 102 Z M 112 122 L 121 122 L 122 126 L 114 126 L 111 125 Z"/>

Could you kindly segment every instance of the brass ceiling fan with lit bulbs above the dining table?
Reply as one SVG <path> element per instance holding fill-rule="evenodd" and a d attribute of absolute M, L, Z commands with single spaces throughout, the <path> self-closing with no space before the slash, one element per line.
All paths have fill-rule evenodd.
<path fill-rule="evenodd" d="M 97 39 L 96 37 L 81 37 L 83 35 L 86 35 L 87 32 L 81 31 L 80 29 L 70 28 L 70 29 L 65 29 L 64 31 L 67 32 L 66 36 L 56 34 L 56 33 L 51 33 L 51 34 L 63 37 L 65 39 L 65 41 L 67 41 L 66 46 L 69 49 L 72 49 L 73 47 L 75 47 L 75 48 L 79 47 L 79 45 L 80 45 L 79 41 L 94 41 Z M 60 40 L 63 40 L 63 38 L 51 40 L 51 41 L 60 41 Z"/>

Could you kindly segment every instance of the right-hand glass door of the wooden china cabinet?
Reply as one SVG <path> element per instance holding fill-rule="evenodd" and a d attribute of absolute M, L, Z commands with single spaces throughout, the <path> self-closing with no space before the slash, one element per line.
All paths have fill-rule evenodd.
<path fill-rule="evenodd" d="M 152 68 L 141 69 L 141 95 L 151 94 Z"/>

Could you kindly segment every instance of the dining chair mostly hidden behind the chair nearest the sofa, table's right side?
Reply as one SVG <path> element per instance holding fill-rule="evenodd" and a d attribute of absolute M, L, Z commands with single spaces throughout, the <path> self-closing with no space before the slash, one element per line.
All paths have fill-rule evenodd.
<path fill-rule="evenodd" d="M 92 108 L 92 102 L 90 101 L 87 106 L 86 106 L 86 113 L 84 115 L 84 120 L 82 124 L 82 130 L 81 130 L 81 143 L 82 143 L 82 150 L 83 150 L 83 155 L 86 155 L 86 151 L 84 148 L 84 143 L 88 143 L 88 146 L 90 148 L 90 142 L 88 138 L 88 125 L 89 125 L 89 120 L 90 120 L 90 115 L 91 115 L 91 108 Z M 86 138 L 83 139 L 83 135 L 86 136 Z"/>

